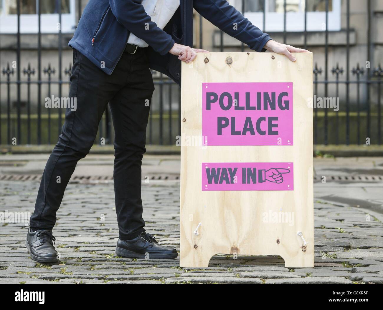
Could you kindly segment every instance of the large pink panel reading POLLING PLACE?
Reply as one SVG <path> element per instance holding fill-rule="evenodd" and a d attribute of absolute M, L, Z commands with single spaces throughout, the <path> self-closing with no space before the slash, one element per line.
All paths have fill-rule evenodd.
<path fill-rule="evenodd" d="M 293 145 L 293 83 L 202 83 L 204 145 Z"/>

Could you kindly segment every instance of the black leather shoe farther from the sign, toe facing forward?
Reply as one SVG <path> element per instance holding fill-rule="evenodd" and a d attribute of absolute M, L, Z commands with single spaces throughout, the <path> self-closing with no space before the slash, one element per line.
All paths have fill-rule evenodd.
<path fill-rule="evenodd" d="M 56 240 L 52 235 L 52 230 L 36 230 L 31 232 L 28 229 L 26 235 L 25 246 L 31 258 L 39 263 L 55 263 L 57 262 L 57 251 L 53 243 Z M 55 244 L 56 245 L 56 244 Z"/>

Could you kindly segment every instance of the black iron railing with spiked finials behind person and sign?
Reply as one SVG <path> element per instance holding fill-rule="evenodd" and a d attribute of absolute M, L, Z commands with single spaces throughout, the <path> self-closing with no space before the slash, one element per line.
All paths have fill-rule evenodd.
<path fill-rule="evenodd" d="M 53 144 L 56 143 L 58 135 L 61 133 L 61 127 L 64 121 L 64 109 L 45 109 L 44 98 L 46 95 L 57 95 L 61 98 L 66 96 L 69 86 L 69 76 L 71 74 L 72 64 L 68 67 L 63 65 L 63 49 L 67 42 L 63 42 L 64 37 L 59 29 L 58 36 L 58 63 L 57 68 L 51 64 L 43 67 L 42 61 L 42 35 L 41 32 L 41 9 L 39 0 L 37 1 L 37 66 L 33 67 L 30 61 L 21 63 L 21 32 L 20 0 L 16 0 L 17 5 L 17 34 L 16 45 L 14 48 L 7 48 L 15 52 L 16 68 L 13 68 L 12 61 L 8 61 L 2 68 L 0 74 L 0 87 L 3 94 L 0 93 L 0 145 L 13 144 L 16 138 L 17 144 Z M 62 0 L 56 0 L 57 14 L 59 23 L 62 21 L 61 3 Z M 336 49 L 344 51 L 345 59 L 339 61 L 336 66 L 329 67 L 329 0 L 323 0 L 326 10 L 326 28 L 324 29 L 324 52 L 319 57 L 324 58 L 323 68 L 318 66 L 316 54 L 314 54 L 314 94 L 323 98 L 339 98 L 340 90 L 344 90 L 345 98 L 341 100 L 339 111 L 331 109 L 314 108 L 314 143 L 315 144 L 364 144 L 365 139 L 369 138 L 371 144 L 381 144 L 381 78 L 383 71 L 380 64 L 373 64 L 372 68 L 360 65 L 358 62 L 350 60 L 350 0 L 342 0 L 345 4 L 346 16 L 346 43 L 345 46 L 337 46 Z M 366 1 L 367 6 L 367 33 L 365 58 L 373 59 L 374 46 L 372 44 L 371 24 L 371 1 Z M 86 1 L 77 0 L 77 17 L 80 18 L 82 6 Z M 246 0 L 242 0 L 242 11 L 246 12 Z M 280 34 L 283 42 L 288 44 L 290 33 L 286 31 L 286 0 L 284 7 L 283 31 Z M 305 4 L 308 0 L 305 1 Z M 263 0 L 263 14 L 266 16 L 266 0 Z M 307 30 L 307 5 L 304 9 L 304 31 L 301 47 L 308 48 Z M 196 16 L 198 22 L 199 45 L 203 48 L 203 19 Z M 266 27 L 265 18 L 263 18 L 263 29 Z M 267 29 L 265 29 L 267 32 Z M 295 32 L 297 34 L 297 32 Z M 299 33 L 298 33 L 299 34 Z M 64 46 L 64 48 L 63 48 Z M 242 43 L 240 50 L 245 51 L 247 47 Z M 3 51 L 0 44 L 0 53 Z M 219 31 L 219 51 L 229 50 L 225 45 L 224 34 Z M 4 62 L 3 62 L 4 63 Z M 339 65 L 342 63 L 343 65 Z M 180 134 L 180 89 L 169 78 L 159 73 L 154 73 L 154 83 L 156 87 L 155 95 L 152 101 L 151 114 L 149 116 L 149 125 L 147 131 L 148 144 L 173 145 L 176 135 Z M 22 77 L 23 75 L 23 77 Z M 34 80 L 34 78 L 36 78 Z M 329 87 L 331 85 L 331 87 Z M 52 90 L 54 86 L 54 90 Z M 320 90 L 318 87 L 320 86 Z M 333 87 L 334 86 L 334 87 Z M 36 97 L 33 98 L 31 87 L 36 87 Z M 371 90 L 374 90 L 372 96 Z M 21 91 L 24 91 L 23 95 Z M 5 94 L 5 95 L 4 95 Z M 361 95 L 363 94 L 363 95 Z M 22 98 L 23 97 L 23 98 Z M 22 100 L 23 99 L 23 100 Z M 36 100 L 37 99 L 37 100 Z M 45 111 L 47 110 L 47 111 Z M 95 143 L 100 143 L 100 137 L 105 138 L 105 143 L 112 143 L 113 124 L 111 122 L 110 111 L 106 109 L 102 121 L 100 122 L 98 138 Z"/>

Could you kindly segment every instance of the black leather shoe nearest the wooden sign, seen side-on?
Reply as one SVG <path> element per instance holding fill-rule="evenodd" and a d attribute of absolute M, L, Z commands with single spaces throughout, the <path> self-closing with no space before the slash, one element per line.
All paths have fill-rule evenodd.
<path fill-rule="evenodd" d="M 178 253 L 169 246 L 159 245 L 155 238 L 149 233 L 142 232 L 132 240 L 118 239 L 116 254 L 131 258 L 164 259 L 176 258 Z"/>

